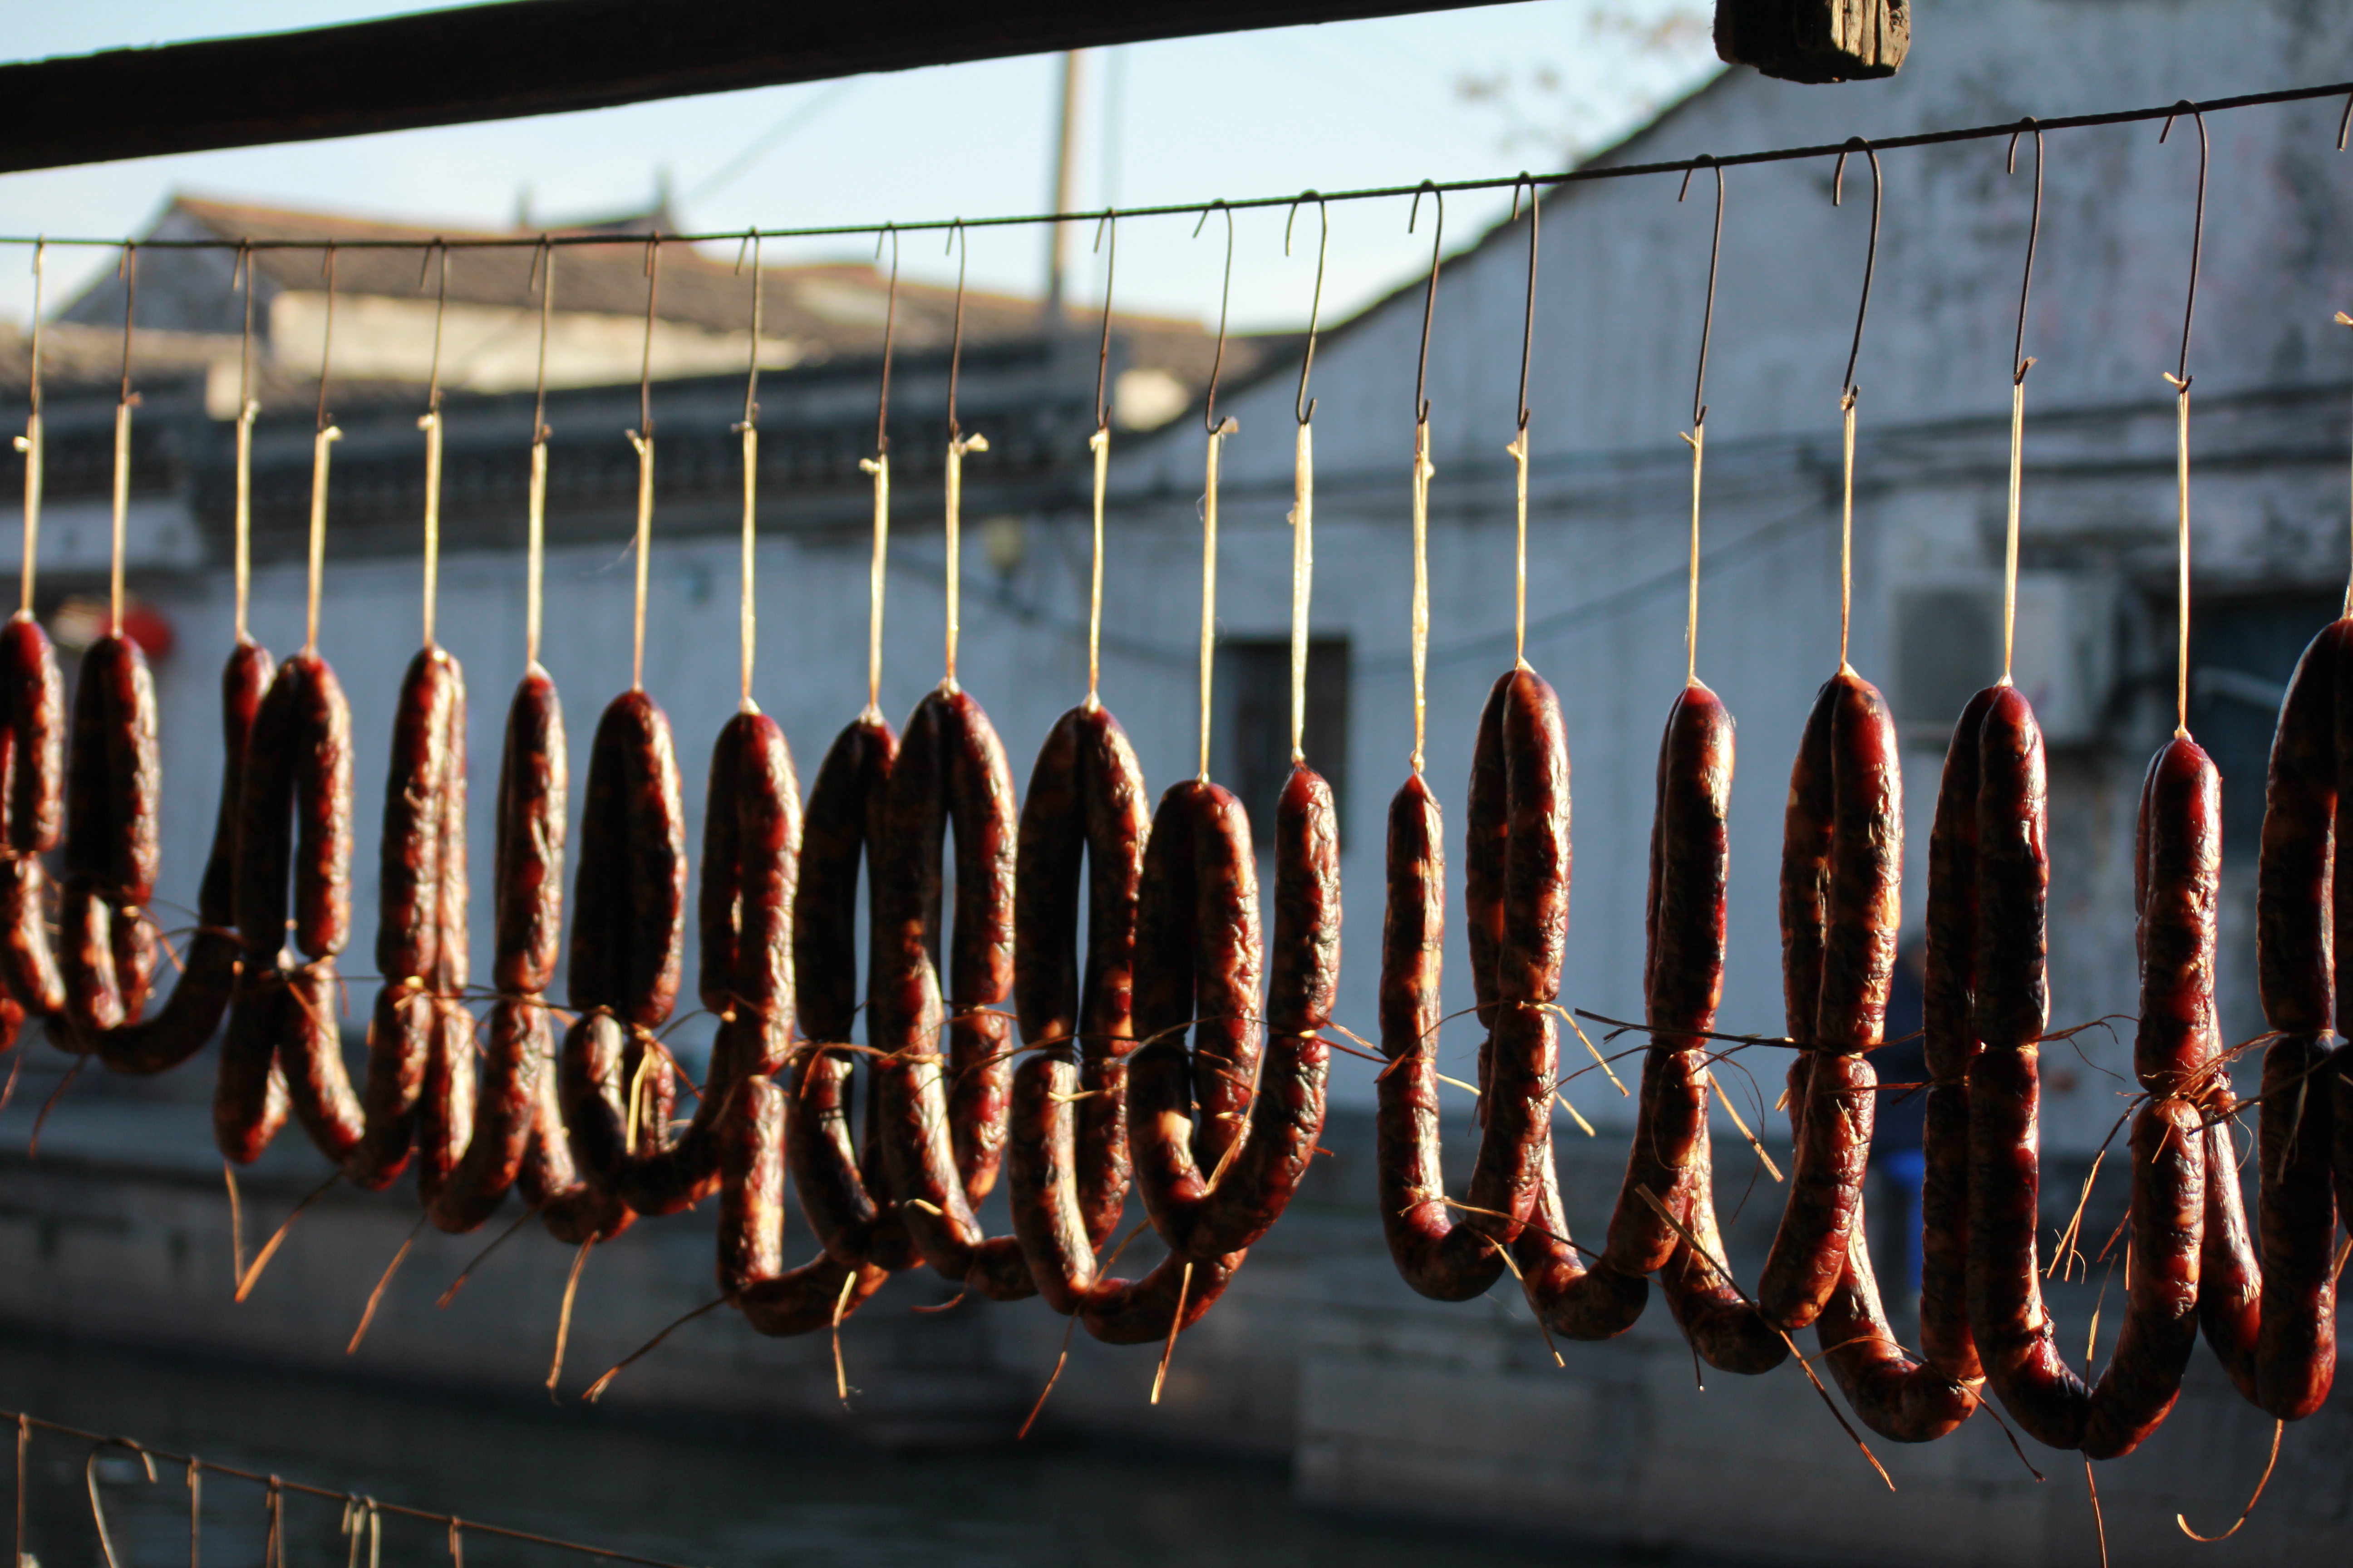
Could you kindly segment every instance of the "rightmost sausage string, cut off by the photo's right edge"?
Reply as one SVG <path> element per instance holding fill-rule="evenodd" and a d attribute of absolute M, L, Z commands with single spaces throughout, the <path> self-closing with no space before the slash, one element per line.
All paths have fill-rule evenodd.
<path fill-rule="evenodd" d="M 2353 943 L 2353 621 L 2334 621 L 2297 661 L 2271 741 L 2264 846 L 2254 886 L 2264 1023 L 2257 1133 L 2261 1260 L 2247 1239 L 2221 1074 L 2207 1091 L 2207 1229 L 2198 1316 L 2231 1382 L 2280 1420 L 2301 1420 L 2337 1375 L 2337 1218 L 2353 1194 L 2353 1058 L 2329 1030 L 2337 954 Z M 2334 1081 L 2332 1081 L 2334 1079 Z M 2332 1161 L 2334 1145 L 2334 1161 Z M 2337 1192 L 2329 1190 L 2334 1164 Z"/>

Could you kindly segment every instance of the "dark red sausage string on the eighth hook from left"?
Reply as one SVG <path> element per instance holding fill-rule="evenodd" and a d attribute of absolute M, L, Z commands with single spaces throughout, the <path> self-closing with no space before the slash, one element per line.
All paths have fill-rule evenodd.
<path fill-rule="evenodd" d="M 819 1253 L 784 1267 L 786 1088 L 769 1079 L 793 1039 L 793 910 L 800 872 L 800 785 L 784 731 L 739 712 L 711 752 L 704 816 L 701 990 L 722 1016 L 711 1051 L 729 1095 L 720 1110 L 720 1291 L 765 1335 L 838 1324 L 882 1288 L 889 1269 Z M 713 1088 L 706 1081 L 704 1093 Z"/>

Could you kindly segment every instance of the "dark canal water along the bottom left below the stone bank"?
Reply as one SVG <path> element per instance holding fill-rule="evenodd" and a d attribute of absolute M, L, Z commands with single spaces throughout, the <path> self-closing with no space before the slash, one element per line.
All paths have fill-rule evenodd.
<path fill-rule="evenodd" d="M 466 1519 L 711 1568 L 1520 1568 L 1619 1561 L 1525 1537 L 1360 1519 L 1292 1500 L 1278 1465 L 1104 1443 L 882 1453 L 814 1427 L 645 1425 L 567 1401 L 468 1403 L 445 1392 L 266 1366 L 160 1359 L 0 1335 L 0 1406 L 155 1448 Z M 35 1432 L 26 1554 L 106 1568 L 92 1446 Z M 120 1568 L 188 1563 L 179 1467 L 96 1460 Z M 289 1495 L 287 1568 L 351 1568 L 341 1507 Z M 264 1563 L 264 1488 L 207 1476 L 198 1568 Z M 365 1566 L 365 1549 L 358 1563 Z M 440 1526 L 384 1519 L 381 1563 L 440 1566 Z M 466 1568 L 593 1559 L 464 1537 Z"/>

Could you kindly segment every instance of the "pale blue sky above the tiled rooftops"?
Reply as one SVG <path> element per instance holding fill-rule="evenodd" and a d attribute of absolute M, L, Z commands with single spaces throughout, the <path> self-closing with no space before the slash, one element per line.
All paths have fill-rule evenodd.
<path fill-rule="evenodd" d="M 16 59 L 322 26 L 426 5 L 384 0 L 0 0 Z M 1558 169 L 1640 125 L 1713 73 L 1706 0 L 1539 0 L 1433 16 L 1132 45 L 1087 56 L 1080 207 L 1391 186 Z M 1466 94 L 1464 82 L 1489 85 Z M 1056 56 L 981 61 L 807 87 L 675 99 L 473 127 L 146 158 L 0 176 L 0 233 L 120 235 L 176 190 L 421 223 L 499 226 L 529 193 L 541 219 L 642 205 L 668 169 L 696 228 L 864 223 L 1038 212 L 1049 195 Z M 1508 195 L 1454 197 L 1468 240 Z M 1136 221 L 1120 235 L 1120 303 L 1214 315 L 1219 235 Z M 1426 230 L 1424 230 L 1426 233 Z M 1089 235 L 1073 237 L 1085 256 Z M 861 256 L 812 242 L 769 256 Z M 972 237 L 972 277 L 1035 292 L 1045 230 Z M 1405 202 L 1332 212 L 1325 320 L 1426 266 Z M 49 252 L 49 299 L 106 254 Z M 913 275 L 953 280 L 939 240 L 906 247 Z M 1075 294 L 1096 296 L 1080 268 Z M 1238 219 L 1240 327 L 1299 324 L 1313 244 L 1282 256 L 1282 212 Z M 0 315 L 24 317 L 28 268 L 0 259 Z"/>

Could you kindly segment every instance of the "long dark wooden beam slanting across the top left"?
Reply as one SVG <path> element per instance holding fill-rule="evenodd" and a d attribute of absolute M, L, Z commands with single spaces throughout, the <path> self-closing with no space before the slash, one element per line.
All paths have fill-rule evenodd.
<path fill-rule="evenodd" d="M 0 66 L 0 172 L 1475 2 L 513 0 Z"/>

